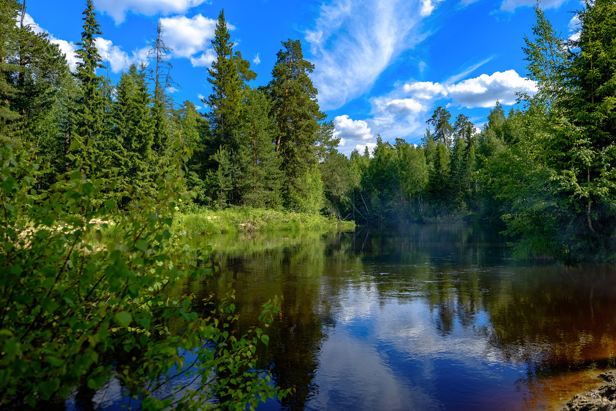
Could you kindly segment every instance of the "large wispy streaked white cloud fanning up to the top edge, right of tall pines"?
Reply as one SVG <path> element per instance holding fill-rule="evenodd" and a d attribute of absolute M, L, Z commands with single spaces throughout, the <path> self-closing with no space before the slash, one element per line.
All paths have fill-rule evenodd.
<path fill-rule="evenodd" d="M 334 0 L 321 6 L 314 28 L 305 34 L 323 109 L 341 107 L 370 90 L 400 52 L 423 40 L 420 7 L 421 0 Z"/>

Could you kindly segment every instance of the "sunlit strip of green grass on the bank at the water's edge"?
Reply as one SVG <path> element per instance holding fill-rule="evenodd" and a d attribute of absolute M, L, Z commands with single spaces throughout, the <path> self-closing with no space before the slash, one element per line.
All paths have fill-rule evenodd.
<path fill-rule="evenodd" d="M 329 229 L 346 231 L 354 230 L 355 222 L 339 222 L 335 218 L 327 218 L 320 214 L 238 207 L 180 214 L 174 221 L 173 227 L 187 234 Z"/>

